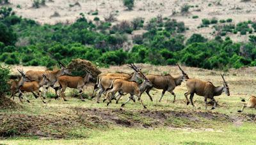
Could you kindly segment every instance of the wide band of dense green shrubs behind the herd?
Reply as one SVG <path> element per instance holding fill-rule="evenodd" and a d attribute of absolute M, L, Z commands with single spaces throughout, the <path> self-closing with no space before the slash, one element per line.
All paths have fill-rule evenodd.
<path fill-rule="evenodd" d="M 18 17 L 12 8 L 2 7 L 0 61 L 47 67 L 54 66 L 56 60 L 67 64 L 76 58 L 90 60 L 98 66 L 131 62 L 156 65 L 180 62 L 205 69 L 256 66 L 256 36 L 253 35 L 248 43 L 234 43 L 222 31 L 214 39 L 193 34 L 185 41 L 184 32 L 189 28 L 184 22 L 168 17 L 158 16 L 148 22 L 134 18 L 132 22 L 113 24 L 99 17 L 86 20 L 84 15 L 81 13 L 73 24 L 40 25 L 35 20 Z M 252 28 L 246 28 L 249 24 L 256 25 L 244 22 L 237 24 L 236 30 L 250 31 Z M 142 28 L 146 30 L 142 35 L 128 37 Z M 126 44 L 131 49 L 124 50 Z"/>

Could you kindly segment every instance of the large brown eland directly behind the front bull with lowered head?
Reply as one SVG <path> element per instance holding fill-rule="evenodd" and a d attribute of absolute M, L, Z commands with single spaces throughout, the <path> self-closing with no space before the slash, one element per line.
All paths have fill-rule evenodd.
<path fill-rule="evenodd" d="M 148 97 L 150 98 L 151 101 L 153 101 L 151 95 L 149 94 L 150 90 L 152 90 L 152 88 L 157 88 L 159 90 L 163 90 L 162 95 L 159 99 L 159 102 L 161 102 L 164 93 L 166 91 L 172 93 L 173 95 L 173 102 L 175 102 L 176 99 L 176 95 L 173 92 L 173 90 L 175 89 L 176 86 L 181 85 L 182 81 L 184 79 L 189 79 L 188 74 L 186 74 L 179 66 L 179 64 L 177 64 L 177 66 L 179 67 L 180 71 L 182 72 L 182 75 L 177 76 L 177 77 L 173 77 L 171 74 L 166 74 L 164 76 L 160 76 L 160 75 L 156 75 L 156 74 L 148 74 L 146 77 L 151 81 L 151 83 L 153 84 L 152 87 L 148 88 L 146 90 L 146 93 L 148 95 Z"/>

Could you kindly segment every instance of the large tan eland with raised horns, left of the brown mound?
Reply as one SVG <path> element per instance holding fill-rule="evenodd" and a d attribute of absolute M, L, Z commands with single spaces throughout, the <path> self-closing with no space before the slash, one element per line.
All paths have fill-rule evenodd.
<path fill-rule="evenodd" d="M 58 62 L 61 66 L 61 69 L 56 70 L 56 71 L 28 71 L 26 72 L 26 76 L 31 80 L 31 81 L 36 81 L 36 82 L 40 82 L 43 79 L 43 74 L 47 75 L 47 78 L 50 80 L 47 83 L 46 88 L 46 92 L 49 89 L 49 86 L 51 86 L 53 88 L 54 84 L 58 81 L 58 78 L 62 75 L 65 74 L 70 74 L 70 72 L 68 71 L 68 69 L 61 64 L 61 62 Z M 57 95 L 57 91 L 55 91 L 56 95 Z"/>

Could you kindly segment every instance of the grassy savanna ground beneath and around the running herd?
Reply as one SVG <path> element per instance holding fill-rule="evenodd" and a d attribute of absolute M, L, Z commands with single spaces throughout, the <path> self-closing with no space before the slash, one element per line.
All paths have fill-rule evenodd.
<path fill-rule="evenodd" d="M 138 64 L 145 74 L 180 74 L 176 66 L 150 66 Z M 20 66 L 19 66 L 20 67 Z M 15 70 L 16 67 L 13 67 Z M 24 71 L 32 69 L 24 67 Z M 33 67 L 33 69 L 44 69 Z M 131 72 L 126 66 L 111 66 L 101 71 Z M 208 71 L 184 67 L 190 78 L 212 81 L 222 85 L 220 71 Z M 254 94 L 256 79 L 255 67 L 230 69 L 225 79 L 230 86 L 230 97 L 223 94 L 216 97 L 219 106 L 206 111 L 204 99 L 195 95 L 195 108 L 186 105 L 182 83 L 175 89 L 177 102 L 166 93 L 158 102 L 161 90 L 150 92 L 154 101 L 147 95 L 142 99 L 147 105 L 143 109 L 140 102 L 129 102 L 124 109 L 113 101 L 97 104 L 96 100 L 72 97 L 76 90 L 68 90 L 68 102 L 63 99 L 47 98 L 47 104 L 28 94 L 31 103 L 20 104 L 17 109 L 1 109 L 1 144 L 255 144 L 255 110 L 245 109 L 237 113 L 243 103 L 241 98 Z M 84 88 L 86 95 L 92 94 L 92 86 Z M 50 96 L 50 95 L 49 95 Z M 209 107 L 211 108 L 211 107 Z"/>

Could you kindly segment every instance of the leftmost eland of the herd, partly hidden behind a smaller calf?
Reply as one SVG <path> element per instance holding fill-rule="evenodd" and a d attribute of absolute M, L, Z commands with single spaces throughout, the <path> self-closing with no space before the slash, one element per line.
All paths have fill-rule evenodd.
<path fill-rule="evenodd" d="M 18 81 L 15 81 L 13 79 L 11 79 L 10 81 L 8 81 L 8 84 L 10 85 L 10 91 L 11 91 L 11 98 L 15 96 L 15 93 L 19 92 L 20 86 L 22 86 L 24 84 L 25 81 L 29 81 L 29 79 L 26 77 L 26 75 L 24 74 L 23 71 L 21 71 L 20 69 L 17 69 L 20 74 L 21 74 L 21 78 Z M 20 102 L 22 102 L 21 98 L 19 97 Z M 29 102 L 29 100 L 27 99 L 27 101 Z"/>

